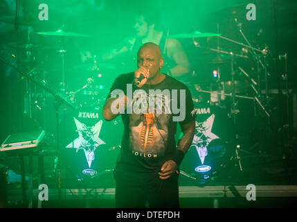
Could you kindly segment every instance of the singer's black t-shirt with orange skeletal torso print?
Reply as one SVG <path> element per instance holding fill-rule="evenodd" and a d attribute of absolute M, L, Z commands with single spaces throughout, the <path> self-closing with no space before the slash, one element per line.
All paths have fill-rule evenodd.
<path fill-rule="evenodd" d="M 167 75 L 161 83 L 141 88 L 132 87 L 133 80 L 134 73 L 118 76 L 107 96 L 108 99 L 114 89 L 120 89 L 128 97 L 133 92 L 134 99 L 129 111 L 127 108 L 121 114 L 125 130 L 116 167 L 160 171 L 176 149 L 177 121 L 181 124 L 195 121 L 192 96 L 186 85 Z"/>

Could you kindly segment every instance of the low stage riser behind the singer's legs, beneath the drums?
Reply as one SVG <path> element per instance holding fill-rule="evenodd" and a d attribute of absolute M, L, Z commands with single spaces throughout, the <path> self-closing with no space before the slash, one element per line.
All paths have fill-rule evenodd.
<path fill-rule="evenodd" d="M 255 200 L 246 199 L 249 191 L 244 186 L 179 187 L 179 197 L 181 207 L 294 207 L 297 200 L 295 185 L 258 186 Z M 49 189 L 42 207 L 114 207 L 114 192 L 114 188 L 62 189 L 62 200 L 58 200 L 57 189 Z M 33 207 L 37 207 L 38 194 L 39 190 L 33 189 Z M 20 203 L 21 189 L 10 189 L 8 207 Z"/>

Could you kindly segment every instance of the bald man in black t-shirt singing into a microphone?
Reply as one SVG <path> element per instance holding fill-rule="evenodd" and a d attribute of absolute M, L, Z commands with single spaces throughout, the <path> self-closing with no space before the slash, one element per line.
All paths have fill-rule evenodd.
<path fill-rule="evenodd" d="M 118 76 L 105 101 L 103 117 L 121 114 L 125 127 L 114 170 L 116 207 L 179 207 L 178 168 L 192 144 L 195 112 L 188 87 L 161 73 L 161 55 L 158 45 L 143 44 L 138 69 Z M 177 119 L 183 137 L 176 146 Z"/>

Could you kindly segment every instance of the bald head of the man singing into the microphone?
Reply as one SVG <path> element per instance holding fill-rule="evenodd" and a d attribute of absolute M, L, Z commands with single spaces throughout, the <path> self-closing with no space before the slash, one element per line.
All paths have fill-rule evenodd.
<path fill-rule="evenodd" d="M 143 46 L 138 49 L 137 67 L 145 67 L 149 69 L 149 79 L 156 78 L 156 76 L 161 75 L 163 58 L 160 47 L 152 42 L 143 44 Z"/>

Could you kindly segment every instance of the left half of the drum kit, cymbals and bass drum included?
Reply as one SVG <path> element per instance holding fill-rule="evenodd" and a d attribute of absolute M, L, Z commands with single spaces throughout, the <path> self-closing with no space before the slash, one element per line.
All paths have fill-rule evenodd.
<path fill-rule="evenodd" d="M 38 127 L 46 130 L 47 136 L 51 137 L 49 140 L 56 140 L 57 150 L 60 151 L 60 156 L 55 158 L 52 172 L 58 173 L 59 181 L 59 172 L 62 170 L 60 164 L 65 165 L 65 175 L 79 181 L 112 172 L 121 139 L 120 136 L 115 138 L 113 133 L 120 135 L 123 124 L 120 119 L 105 121 L 102 118 L 102 106 L 110 87 L 106 83 L 104 71 L 114 69 L 114 65 L 99 62 L 96 56 L 91 56 L 92 61 L 73 65 L 74 70 L 82 73 L 78 76 L 81 81 L 76 80 L 80 87 L 70 90 L 67 83 L 71 79 L 67 78 L 69 69 L 66 64 L 66 42 L 69 38 L 91 36 L 66 32 L 63 27 L 57 31 L 34 33 L 35 37 L 51 37 L 51 40 L 54 40 L 53 46 L 31 44 L 30 34 L 28 33 L 26 44 L 16 42 L 10 43 L 8 47 L 17 51 L 18 65 L 12 68 L 23 74 L 21 80 L 25 83 L 24 114 L 29 121 L 35 119 Z M 48 55 L 53 56 L 53 51 L 55 59 L 61 62 L 55 67 L 48 62 L 52 59 L 48 58 Z M 51 83 L 51 74 L 60 76 L 60 83 L 56 84 L 58 90 L 51 87 L 55 85 L 55 82 Z M 57 121 L 53 121 L 54 119 Z"/>

